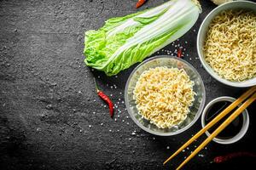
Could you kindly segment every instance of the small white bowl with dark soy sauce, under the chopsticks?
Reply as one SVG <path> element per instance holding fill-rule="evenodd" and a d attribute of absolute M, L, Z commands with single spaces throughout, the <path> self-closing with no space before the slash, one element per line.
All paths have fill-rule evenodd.
<path fill-rule="evenodd" d="M 211 122 L 219 113 L 224 111 L 231 103 L 233 103 L 236 99 L 228 96 L 219 97 L 217 99 L 213 99 L 208 105 L 205 107 L 204 111 L 201 115 L 201 126 L 205 127 L 208 122 Z M 229 114 L 224 116 L 218 123 L 212 126 L 207 132 L 207 136 L 210 136 L 211 133 L 214 132 L 236 109 L 239 107 L 238 105 L 233 111 L 230 111 Z M 246 133 L 249 127 L 249 115 L 247 110 L 245 109 L 236 119 L 231 122 L 221 133 L 218 133 L 218 136 L 213 139 L 214 142 L 218 144 L 233 144 L 240 140 Z"/>

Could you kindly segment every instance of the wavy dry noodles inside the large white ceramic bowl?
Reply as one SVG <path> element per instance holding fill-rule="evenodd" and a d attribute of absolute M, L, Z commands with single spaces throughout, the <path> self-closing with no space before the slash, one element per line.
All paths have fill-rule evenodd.
<path fill-rule="evenodd" d="M 232 82 L 256 77 L 256 14 L 226 10 L 209 26 L 203 48 L 207 63 Z"/>

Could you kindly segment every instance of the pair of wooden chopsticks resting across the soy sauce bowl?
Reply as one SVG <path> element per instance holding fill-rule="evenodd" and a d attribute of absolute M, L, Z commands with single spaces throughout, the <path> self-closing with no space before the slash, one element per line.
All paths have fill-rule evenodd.
<path fill-rule="evenodd" d="M 251 96 L 251 97 L 250 97 Z M 250 98 L 249 98 L 250 97 Z M 249 98 L 249 99 L 247 99 Z M 240 98 L 236 99 L 231 105 L 229 105 L 224 111 L 222 111 L 218 116 L 216 116 L 211 122 L 207 124 L 206 127 L 203 127 L 198 133 L 195 134 L 191 139 L 189 139 L 188 142 L 183 144 L 182 147 L 180 147 L 172 156 L 170 156 L 165 162 L 164 165 L 167 163 L 167 161 L 170 161 L 174 156 L 177 156 L 179 152 L 181 152 L 183 149 L 185 149 L 189 144 L 195 141 L 195 139 L 198 139 L 203 133 L 205 133 L 209 128 L 211 128 L 215 123 L 217 123 L 219 120 L 221 120 L 224 116 L 226 116 L 230 111 L 236 108 L 241 102 L 243 102 L 245 99 L 247 99 L 236 111 L 232 113 L 203 143 L 201 143 L 191 154 L 187 159 L 185 159 L 179 167 L 177 167 L 177 170 L 182 168 L 186 163 L 189 162 L 200 150 L 202 150 L 209 142 L 214 139 L 218 133 L 220 133 L 222 130 L 224 130 L 225 127 L 227 127 L 230 122 L 233 122 L 237 116 L 241 114 L 242 111 L 244 111 L 248 105 L 251 105 L 253 101 L 256 99 L 256 86 L 253 88 L 250 88 L 247 90 L 246 93 L 242 94 Z"/>

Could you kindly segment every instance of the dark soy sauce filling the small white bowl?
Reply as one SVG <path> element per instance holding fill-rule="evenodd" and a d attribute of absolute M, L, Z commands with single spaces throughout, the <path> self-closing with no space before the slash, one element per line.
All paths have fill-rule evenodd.
<path fill-rule="evenodd" d="M 231 104 L 230 101 L 219 101 L 215 104 L 213 104 L 207 111 L 205 122 L 206 124 L 208 122 L 211 122 L 212 119 L 214 119 L 221 111 L 224 111 L 225 108 L 227 108 Z M 216 130 L 234 111 L 236 111 L 237 107 L 230 111 L 229 114 L 224 116 L 218 123 L 216 123 L 214 126 L 212 126 L 208 132 L 213 133 L 214 130 Z M 225 127 L 224 130 L 221 133 L 218 133 L 218 136 L 216 138 L 218 139 L 231 139 L 234 136 L 236 136 L 237 133 L 240 132 L 241 127 L 243 124 L 243 116 L 242 113 L 236 117 L 236 119 L 233 122 L 230 122 L 229 126 Z"/>

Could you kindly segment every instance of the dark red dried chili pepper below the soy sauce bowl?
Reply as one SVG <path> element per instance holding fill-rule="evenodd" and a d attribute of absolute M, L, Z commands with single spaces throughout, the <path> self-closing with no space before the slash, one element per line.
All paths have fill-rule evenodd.
<path fill-rule="evenodd" d="M 253 153 L 249 153 L 249 152 L 236 152 L 236 153 L 231 153 L 231 154 L 228 154 L 228 155 L 225 155 L 225 156 L 216 156 L 213 161 L 215 163 L 222 163 L 224 161 L 228 161 L 232 158 L 235 158 L 235 157 L 240 157 L 240 156 L 251 156 L 251 157 L 256 157 L 256 154 L 253 154 Z"/>

